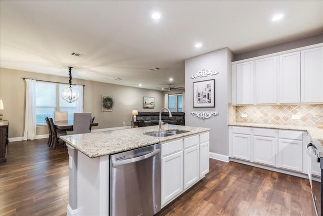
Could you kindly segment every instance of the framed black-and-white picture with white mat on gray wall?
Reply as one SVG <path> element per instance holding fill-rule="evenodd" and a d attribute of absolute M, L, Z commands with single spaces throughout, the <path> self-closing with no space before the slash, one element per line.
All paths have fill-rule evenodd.
<path fill-rule="evenodd" d="M 193 82 L 193 107 L 216 107 L 216 80 Z"/>

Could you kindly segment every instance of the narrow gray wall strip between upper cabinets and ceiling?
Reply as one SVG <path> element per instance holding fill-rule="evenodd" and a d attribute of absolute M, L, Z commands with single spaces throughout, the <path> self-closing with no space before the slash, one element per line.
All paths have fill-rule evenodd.
<path fill-rule="evenodd" d="M 323 42 L 323 34 L 318 34 L 315 36 L 305 37 L 302 39 L 285 42 L 283 44 L 250 51 L 247 53 L 237 54 L 234 56 L 234 61 L 253 58 L 257 56 L 263 56 L 263 55 L 272 54 L 272 53 L 278 53 L 285 50 L 292 50 L 300 47 L 306 47 L 314 44 L 319 44 L 321 42 Z"/>

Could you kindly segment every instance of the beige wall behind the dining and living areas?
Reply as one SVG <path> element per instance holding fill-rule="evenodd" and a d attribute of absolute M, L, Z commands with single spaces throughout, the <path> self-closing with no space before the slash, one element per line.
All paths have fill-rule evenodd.
<path fill-rule="evenodd" d="M 68 74 L 67 74 L 68 75 Z M 25 118 L 26 83 L 22 79 L 32 78 L 54 82 L 68 82 L 68 77 L 52 76 L 27 71 L 0 68 L 0 98 L 4 102 L 1 110 L 4 120 L 9 120 L 9 138 L 23 137 Z M 92 129 L 129 126 L 132 119 L 131 111 L 159 111 L 163 108 L 161 91 L 126 87 L 103 82 L 74 79 L 73 84 L 84 84 L 84 112 L 95 116 L 98 126 Z M 111 95 L 114 99 L 112 112 L 101 111 L 101 95 Z M 143 109 L 142 97 L 154 97 L 155 108 Z M 123 123 L 125 122 L 125 123 Z M 36 135 L 48 134 L 46 126 L 37 127 Z"/>

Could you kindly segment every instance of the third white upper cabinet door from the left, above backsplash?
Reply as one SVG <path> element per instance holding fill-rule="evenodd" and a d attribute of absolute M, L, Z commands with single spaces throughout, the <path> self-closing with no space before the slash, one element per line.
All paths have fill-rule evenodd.
<path fill-rule="evenodd" d="M 279 56 L 279 102 L 301 102 L 300 52 Z"/>

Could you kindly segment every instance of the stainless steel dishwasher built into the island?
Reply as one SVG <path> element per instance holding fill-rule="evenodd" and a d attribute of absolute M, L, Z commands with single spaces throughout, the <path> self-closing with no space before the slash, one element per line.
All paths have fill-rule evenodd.
<path fill-rule="evenodd" d="M 160 199 L 160 144 L 110 156 L 111 216 L 152 216 Z"/>

